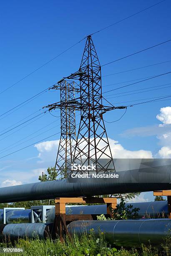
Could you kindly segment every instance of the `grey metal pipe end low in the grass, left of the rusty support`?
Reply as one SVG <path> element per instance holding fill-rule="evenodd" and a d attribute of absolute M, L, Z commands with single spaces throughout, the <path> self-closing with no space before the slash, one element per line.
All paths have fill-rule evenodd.
<path fill-rule="evenodd" d="M 10 241 L 18 238 L 46 238 L 51 232 L 52 224 L 22 223 L 7 224 L 3 228 L 2 236 Z"/>

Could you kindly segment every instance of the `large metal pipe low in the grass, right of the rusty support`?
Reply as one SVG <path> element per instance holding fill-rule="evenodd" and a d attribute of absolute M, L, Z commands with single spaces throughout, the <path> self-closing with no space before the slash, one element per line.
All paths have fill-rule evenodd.
<path fill-rule="evenodd" d="M 164 238 L 169 236 L 171 220 L 91 220 L 73 221 L 68 225 L 68 232 L 90 233 L 91 229 L 99 236 L 99 231 L 104 232 L 106 241 L 115 246 L 140 247 L 141 244 L 160 246 Z"/>

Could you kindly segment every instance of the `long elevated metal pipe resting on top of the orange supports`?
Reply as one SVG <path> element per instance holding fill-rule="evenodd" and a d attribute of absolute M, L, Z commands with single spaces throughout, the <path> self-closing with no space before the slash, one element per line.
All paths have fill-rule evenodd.
<path fill-rule="evenodd" d="M 0 202 L 43 200 L 126 192 L 171 189 L 170 166 L 156 166 L 117 172 L 118 178 L 80 179 L 78 182 L 55 180 L 0 188 Z"/>

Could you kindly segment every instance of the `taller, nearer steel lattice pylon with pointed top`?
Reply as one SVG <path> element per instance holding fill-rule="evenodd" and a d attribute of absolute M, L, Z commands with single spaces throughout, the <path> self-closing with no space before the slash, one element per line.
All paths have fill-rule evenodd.
<path fill-rule="evenodd" d="M 73 156 L 73 162 L 96 164 L 96 173 L 115 170 L 103 121 L 101 66 L 91 36 L 87 37 L 80 64 L 80 108 L 81 119 Z M 75 73 L 71 76 L 76 78 Z M 78 78 L 77 78 L 78 79 Z M 78 150 L 79 148 L 79 150 Z M 105 161 L 102 161 L 105 159 Z"/>

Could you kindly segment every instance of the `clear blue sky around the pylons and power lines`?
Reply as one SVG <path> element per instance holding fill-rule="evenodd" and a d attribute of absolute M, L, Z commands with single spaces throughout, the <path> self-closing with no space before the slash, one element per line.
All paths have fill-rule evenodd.
<path fill-rule="evenodd" d="M 0 3 L 0 92 L 50 59 L 53 59 L 62 51 L 80 41 L 83 37 L 88 36 L 88 34 L 157 2 L 159 1 L 88 0 L 86 3 L 77 0 L 66 0 L 65 3 L 54 0 L 50 2 L 44 0 L 31 0 L 29 2 L 20 0 L 17 2 L 12 0 L 2 1 Z M 96 33 L 92 38 L 101 65 L 171 39 L 170 13 L 171 2 L 166 0 L 143 13 L 135 15 L 115 26 L 111 26 L 100 33 Z M 53 85 L 61 77 L 75 72 L 80 65 L 84 46 L 85 40 L 6 92 L 0 94 L 0 114 L 3 114 L 29 97 Z M 103 67 L 102 76 L 169 61 L 171 60 L 170 49 L 171 43 L 167 43 L 117 61 Z M 126 81 L 151 77 L 169 71 L 171 71 L 171 62 L 103 77 L 103 92 L 131 83 Z M 161 84 L 169 84 L 170 81 L 171 74 L 168 74 L 117 90 L 117 92 L 128 92 Z M 114 85 L 106 86 L 108 84 Z M 169 95 L 171 90 L 168 87 L 162 90 L 122 97 L 116 97 L 118 95 L 110 96 L 115 92 L 106 93 L 105 96 L 113 97 L 110 101 L 117 103 L 165 96 Z M 25 118 L 25 116 L 58 100 L 58 91 L 44 93 L 7 117 L 4 118 L 4 115 L 0 117 L 0 131 L 2 132 L 4 129 Z M 118 105 L 121 104 L 119 103 Z M 118 141 L 128 151 L 145 150 L 151 151 L 153 155 L 157 154 L 162 145 L 161 140 L 157 137 L 159 136 L 158 131 L 156 131 L 158 129 L 156 127 L 161 124 L 161 121 L 156 118 L 156 115 L 160 113 L 161 108 L 170 105 L 170 100 L 166 100 L 128 108 L 126 115 L 120 121 L 112 124 L 106 123 L 108 136 L 114 141 Z M 107 121 L 117 120 L 123 114 L 123 111 L 115 110 L 110 114 L 107 113 L 104 119 Z M 35 115 L 39 114 L 39 112 L 35 113 Z M 30 116 L 30 118 L 33 116 Z M 2 150 L 10 146 L 54 121 L 56 121 L 56 118 L 47 114 L 16 133 L 11 134 L 16 131 L 15 129 L 0 136 L 0 149 Z M 33 134 L 33 136 L 26 138 L 25 140 L 36 136 L 22 145 L 14 145 L 15 148 L 4 153 L 4 150 L 0 151 L 0 157 L 59 132 L 59 127 L 58 120 L 40 132 Z M 148 130 L 147 127 L 151 131 L 151 136 L 149 136 L 149 131 L 146 131 Z M 132 136 L 132 129 L 136 129 L 136 136 Z M 167 127 L 167 129 L 169 131 L 170 128 Z M 44 131 L 47 132 L 39 135 L 39 133 Z M 59 139 L 59 136 L 54 136 L 50 140 L 55 139 Z M 48 164 L 53 165 L 52 160 L 45 162 L 47 159 L 44 159 L 43 162 L 42 159 L 38 159 L 37 156 L 40 153 L 38 148 L 30 146 L 18 153 L 0 159 L 0 182 L 7 179 L 20 181 L 21 183 L 36 181 L 37 172 L 35 170 L 41 172 L 42 168 L 46 169 Z"/>

